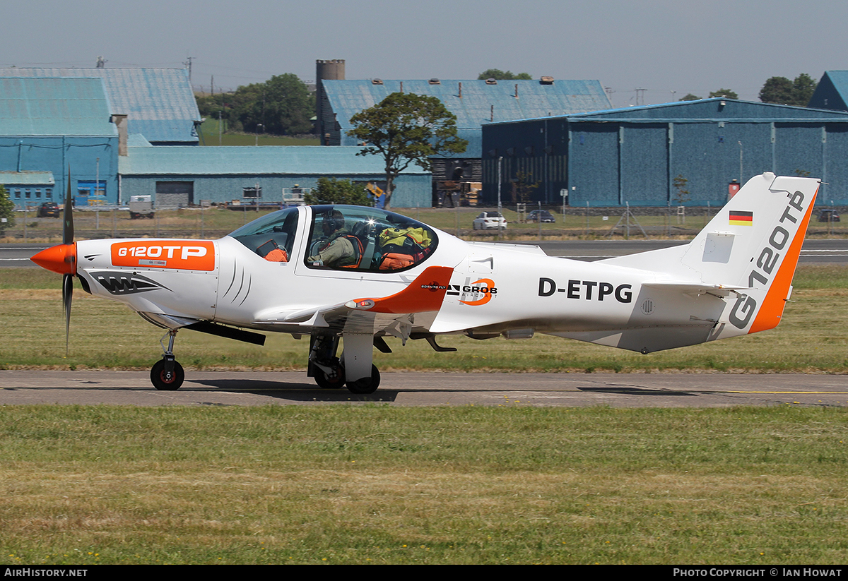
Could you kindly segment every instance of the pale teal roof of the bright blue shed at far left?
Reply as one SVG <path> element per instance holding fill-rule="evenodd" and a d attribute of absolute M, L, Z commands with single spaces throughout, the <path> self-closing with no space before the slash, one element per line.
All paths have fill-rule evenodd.
<path fill-rule="evenodd" d="M 116 136 L 100 79 L 0 77 L 0 135 Z"/>

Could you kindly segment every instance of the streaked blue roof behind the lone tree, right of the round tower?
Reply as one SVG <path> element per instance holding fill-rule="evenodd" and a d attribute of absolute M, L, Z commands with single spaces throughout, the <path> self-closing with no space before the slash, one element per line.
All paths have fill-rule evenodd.
<path fill-rule="evenodd" d="M 550 85 L 538 80 L 499 80 L 497 85 L 487 85 L 485 80 L 440 80 L 438 85 L 427 80 L 383 80 L 382 85 L 371 80 L 321 82 L 343 130 L 350 129 L 354 113 L 401 91 L 401 84 L 404 92 L 437 97 L 456 115 L 456 126 L 467 129 L 479 128 L 493 118 L 505 121 L 611 108 L 597 80 L 555 80 Z"/>

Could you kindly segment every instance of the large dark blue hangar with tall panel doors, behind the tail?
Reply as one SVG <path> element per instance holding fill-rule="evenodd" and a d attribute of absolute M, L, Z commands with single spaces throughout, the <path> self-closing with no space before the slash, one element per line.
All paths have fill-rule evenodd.
<path fill-rule="evenodd" d="M 571 206 L 721 205 L 728 185 L 771 171 L 820 177 L 818 202 L 848 203 L 848 113 L 727 98 L 483 126 L 483 199 Z M 500 175 L 498 166 L 500 163 Z M 681 177 L 688 196 L 674 180 Z"/>

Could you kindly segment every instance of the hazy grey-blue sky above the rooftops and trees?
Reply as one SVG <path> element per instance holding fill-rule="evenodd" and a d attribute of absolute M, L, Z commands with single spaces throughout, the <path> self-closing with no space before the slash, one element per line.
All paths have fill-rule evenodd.
<path fill-rule="evenodd" d="M 774 0 L 0 0 L 0 66 L 182 68 L 215 91 L 345 60 L 348 79 L 600 80 L 616 107 L 758 101 L 772 76 L 848 69 L 848 3 Z M 644 91 L 637 91 L 643 89 Z"/>

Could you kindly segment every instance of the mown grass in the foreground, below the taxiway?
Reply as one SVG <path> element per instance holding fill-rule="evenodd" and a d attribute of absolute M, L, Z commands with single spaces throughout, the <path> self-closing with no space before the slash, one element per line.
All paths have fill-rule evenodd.
<path fill-rule="evenodd" d="M 844 563 L 846 420 L 0 407 L 0 562 Z"/>

